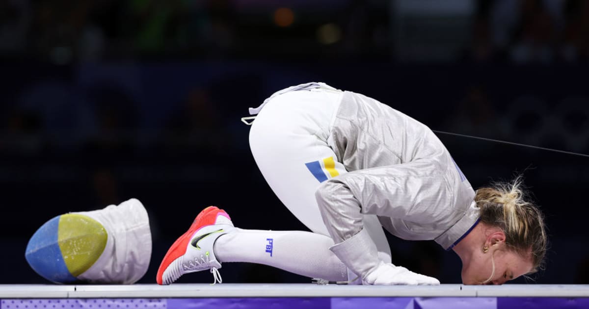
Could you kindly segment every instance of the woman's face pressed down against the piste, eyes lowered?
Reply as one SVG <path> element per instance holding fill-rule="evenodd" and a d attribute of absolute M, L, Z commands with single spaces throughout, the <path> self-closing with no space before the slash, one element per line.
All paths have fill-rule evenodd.
<path fill-rule="evenodd" d="M 495 263 L 495 273 L 493 273 Z M 463 284 L 504 284 L 521 275 L 530 273 L 532 261 L 517 252 L 507 250 L 505 243 L 493 245 L 489 251 L 480 252 L 469 265 L 462 265 Z M 490 279 L 490 280 L 489 280 Z"/>

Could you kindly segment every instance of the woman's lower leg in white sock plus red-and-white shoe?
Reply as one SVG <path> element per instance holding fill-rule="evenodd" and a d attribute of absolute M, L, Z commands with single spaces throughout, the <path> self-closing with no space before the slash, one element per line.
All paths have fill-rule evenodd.
<path fill-rule="evenodd" d="M 227 212 L 205 208 L 188 231 L 166 253 L 158 268 L 158 284 L 174 283 L 183 274 L 210 270 L 221 283 L 226 262 L 266 264 L 308 277 L 345 281 L 347 267 L 329 250 L 331 238 L 303 231 L 241 230 Z"/>

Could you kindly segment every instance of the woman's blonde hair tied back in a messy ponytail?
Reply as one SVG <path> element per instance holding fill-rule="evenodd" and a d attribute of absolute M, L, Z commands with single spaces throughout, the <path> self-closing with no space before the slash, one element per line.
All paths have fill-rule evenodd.
<path fill-rule="evenodd" d="M 521 175 L 511 182 L 494 182 L 477 190 L 475 202 L 481 209 L 481 222 L 501 228 L 508 248 L 525 258 L 531 250 L 530 273 L 535 273 L 544 268 L 548 240 L 544 215 L 528 201 L 522 187 Z"/>

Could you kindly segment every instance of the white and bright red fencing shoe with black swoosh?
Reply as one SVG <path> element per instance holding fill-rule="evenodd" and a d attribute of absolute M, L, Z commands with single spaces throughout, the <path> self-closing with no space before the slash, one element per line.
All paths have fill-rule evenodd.
<path fill-rule="evenodd" d="M 214 283 L 221 283 L 221 263 L 215 257 L 213 245 L 220 235 L 233 230 L 227 212 L 214 206 L 205 208 L 197 215 L 190 229 L 166 253 L 157 271 L 157 283 L 168 285 L 183 274 L 201 270 L 211 270 Z"/>

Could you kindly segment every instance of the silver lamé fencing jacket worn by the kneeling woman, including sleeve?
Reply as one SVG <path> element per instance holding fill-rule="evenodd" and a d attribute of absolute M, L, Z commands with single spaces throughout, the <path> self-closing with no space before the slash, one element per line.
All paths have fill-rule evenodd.
<path fill-rule="evenodd" d="M 474 190 L 426 125 L 375 99 L 345 91 L 328 144 L 349 172 L 323 182 L 317 203 L 335 243 L 376 214 L 393 235 L 446 250 L 479 217 Z"/>

